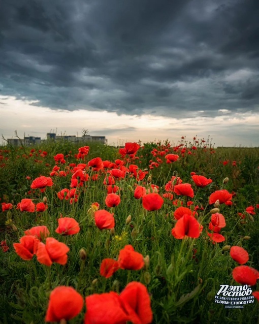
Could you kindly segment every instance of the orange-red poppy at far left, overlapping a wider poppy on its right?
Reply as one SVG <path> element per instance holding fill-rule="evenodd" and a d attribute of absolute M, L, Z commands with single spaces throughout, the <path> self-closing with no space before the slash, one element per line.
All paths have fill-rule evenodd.
<path fill-rule="evenodd" d="M 31 260 L 37 251 L 40 241 L 33 235 L 25 235 L 20 238 L 20 243 L 14 243 L 15 252 L 23 260 Z"/>

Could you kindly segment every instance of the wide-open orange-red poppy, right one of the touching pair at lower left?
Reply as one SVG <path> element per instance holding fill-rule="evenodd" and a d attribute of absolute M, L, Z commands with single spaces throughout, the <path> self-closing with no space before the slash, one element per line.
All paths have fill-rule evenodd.
<path fill-rule="evenodd" d="M 53 237 L 46 238 L 46 244 L 40 242 L 36 252 L 39 263 L 50 267 L 53 262 L 66 265 L 70 248 Z"/>

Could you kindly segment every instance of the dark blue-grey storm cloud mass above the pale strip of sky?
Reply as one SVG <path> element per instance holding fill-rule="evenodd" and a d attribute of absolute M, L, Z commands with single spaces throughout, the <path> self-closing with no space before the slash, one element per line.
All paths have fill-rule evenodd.
<path fill-rule="evenodd" d="M 0 6 L 3 95 L 119 115 L 259 109 L 257 0 L 3 0 Z"/>

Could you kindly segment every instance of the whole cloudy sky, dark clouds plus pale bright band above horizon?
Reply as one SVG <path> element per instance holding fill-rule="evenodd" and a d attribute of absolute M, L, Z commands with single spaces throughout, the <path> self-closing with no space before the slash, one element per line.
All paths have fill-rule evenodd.
<path fill-rule="evenodd" d="M 0 133 L 259 146 L 258 0 L 2 0 Z"/>

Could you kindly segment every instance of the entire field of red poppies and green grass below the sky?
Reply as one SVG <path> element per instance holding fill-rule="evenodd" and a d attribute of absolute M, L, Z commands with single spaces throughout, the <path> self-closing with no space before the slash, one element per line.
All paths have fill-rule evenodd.
<path fill-rule="evenodd" d="M 256 323 L 259 149 L 0 147 L 1 323 Z"/>

